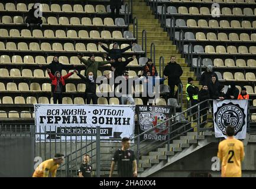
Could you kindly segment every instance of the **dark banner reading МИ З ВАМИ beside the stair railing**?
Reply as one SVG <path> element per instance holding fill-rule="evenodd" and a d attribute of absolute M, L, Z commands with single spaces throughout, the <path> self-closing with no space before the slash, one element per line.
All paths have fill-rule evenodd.
<path fill-rule="evenodd" d="M 163 123 L 170 118 L 170 106 L 136 106 L 138 118 L 139 133 L 148 131 L 149 129 Z M 149 141 L 166 141 L 168 122 L 163 123 L 154 130 L 146 132 L 141 136 L 141 140 Z"/>

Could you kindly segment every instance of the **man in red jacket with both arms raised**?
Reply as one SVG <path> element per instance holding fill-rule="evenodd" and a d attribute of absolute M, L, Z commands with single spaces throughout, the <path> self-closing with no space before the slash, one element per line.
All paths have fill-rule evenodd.
<path fill-rule="evenodd" d="M 51 79 L 51 92 L 53 93 L 53 103 L 57 104 L 57 100 L 59 104 L 62 104 L 62 92 L 63 87 L 65 86 L 65 80 L 69 78 L 69 76 L 72 76 L 72 74 L 75 72 L 70 72 L 66 74 L 66 76 L 61 76 L 60 71 L 56 71 L 56 73 L 51 74 L 50 69 L 47 69 L 47 73 L 50 76 Z"/>

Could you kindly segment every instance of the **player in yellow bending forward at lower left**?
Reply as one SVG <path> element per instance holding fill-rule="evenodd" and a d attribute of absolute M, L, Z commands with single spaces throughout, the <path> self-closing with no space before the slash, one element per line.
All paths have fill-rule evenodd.
<path fill-rule="evenodd" d="M 51 177 L 56 177 L 57 168 L 63 162 L 63 158 L 63 154 L 56 154 L 53 159 L 41 162 L 35 169 L 33 177 L 48 177 L 49 173 L 51 173 Z"/>

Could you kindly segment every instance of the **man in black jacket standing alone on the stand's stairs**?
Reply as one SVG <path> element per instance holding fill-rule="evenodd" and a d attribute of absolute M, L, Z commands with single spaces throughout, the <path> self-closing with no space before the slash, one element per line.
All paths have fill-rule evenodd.
<path fill-rule="evenodd" d="M 168 86 L 170 86 L 170 98 L 174 97 L 174 87 L 179 87 L 179 84 L 182 83 L 180 76 L 182 76 L 183 70 L 180 64 L 177 64 L 175 57 L 171 56 L 171 61 L 164 67 L 164 76 L 168 77 Z M 182 90 L 182 89 L 180 89 Z M 177 92 L 175 94 L 177 98 Z"/>

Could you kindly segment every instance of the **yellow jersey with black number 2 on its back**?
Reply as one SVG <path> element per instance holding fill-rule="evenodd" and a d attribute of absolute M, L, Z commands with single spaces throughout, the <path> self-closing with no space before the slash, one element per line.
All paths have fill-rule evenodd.
<path fill-rule="evenodd" d="M 221 177 L 241 177 L 244 145 L 238 139 L 225 139 L 219 143 L 218 157 L 222 161 Z"/>

